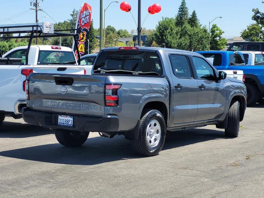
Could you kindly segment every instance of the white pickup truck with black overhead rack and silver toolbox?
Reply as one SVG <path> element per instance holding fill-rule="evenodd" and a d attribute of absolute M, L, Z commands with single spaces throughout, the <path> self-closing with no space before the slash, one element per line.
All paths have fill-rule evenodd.
<path fill-rule="evenodd" d="M 0 25 L 0 35 L 3 35 L 0 39 L 29 38 L 28 46 L 17 47 L 3 56 L 0 51 L 0 126 L 6 115 L 22 118 L 22 108 L 26 107 L 26 79 L 30 73 L 86 74 L 85 67 L 78 65 L 80 58 L 77 62 L 72 49 L 31 45 L 33 39 L 39 37 L 70 36 L 78 47 L 78 34 L 64 33 L 63 30 L 55 32 L 52 23 L 32 23 Z M 78 50 L 77 55 L 80 57 Z"/>

